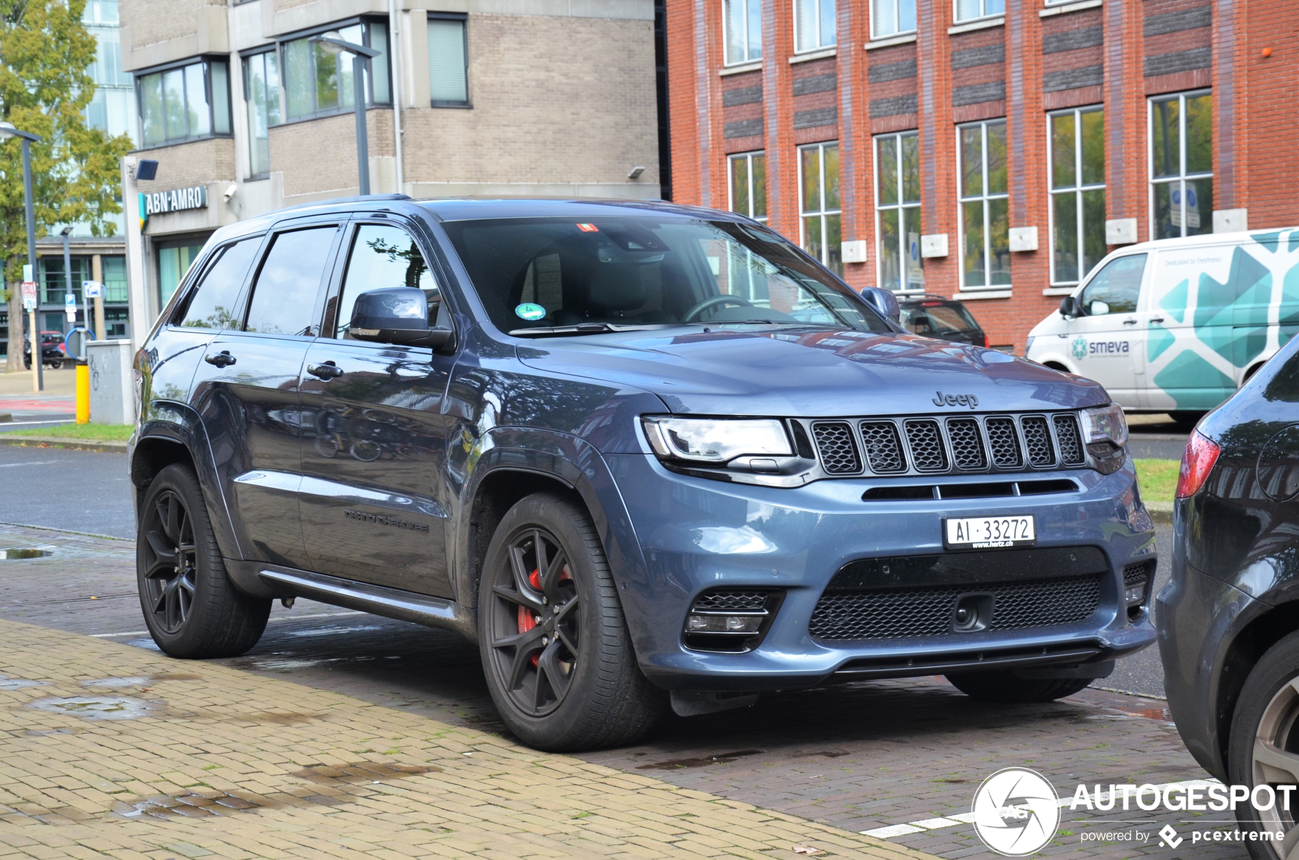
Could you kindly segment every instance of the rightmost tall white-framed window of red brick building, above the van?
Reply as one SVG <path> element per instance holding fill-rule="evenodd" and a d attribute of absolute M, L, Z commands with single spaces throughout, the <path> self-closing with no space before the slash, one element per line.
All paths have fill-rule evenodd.
<path fill-rule="evenodd" d="M 1151 238 L 1213 233 L 1213 96 L 1150 100 Z"/>

